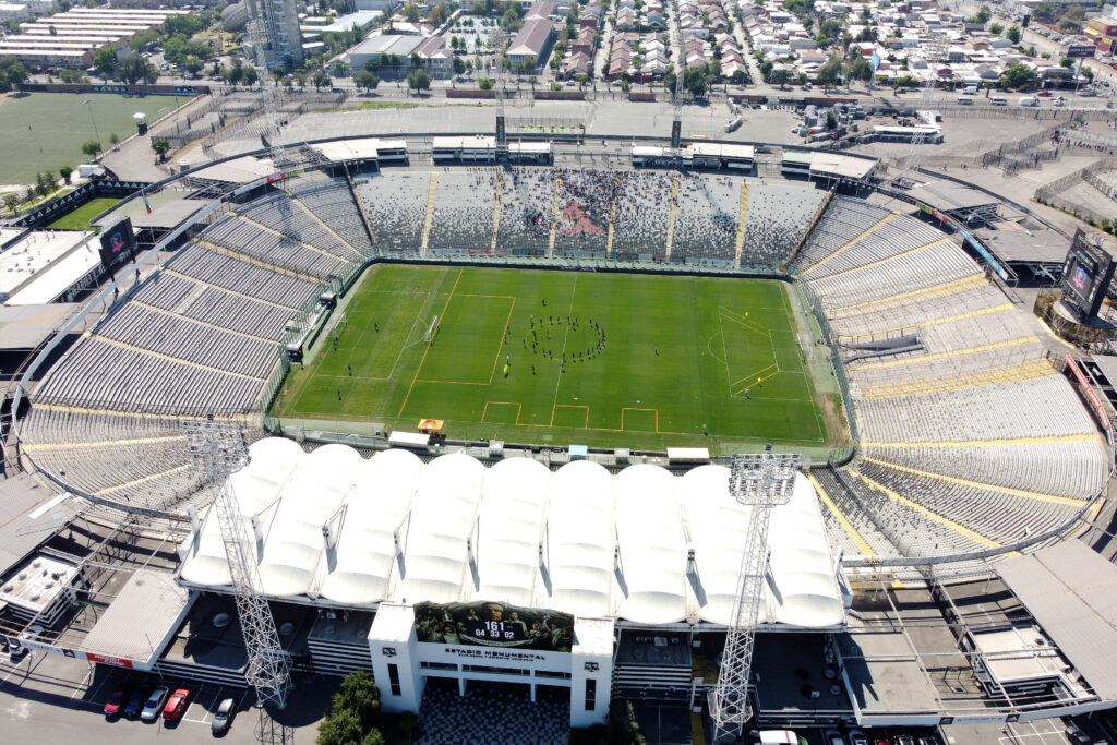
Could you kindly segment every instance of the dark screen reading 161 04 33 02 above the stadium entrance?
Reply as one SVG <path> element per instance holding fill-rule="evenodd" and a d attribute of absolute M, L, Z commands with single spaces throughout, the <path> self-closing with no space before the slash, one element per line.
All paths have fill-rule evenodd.
<path fill-rule="evenodd" d="M 416 603 L 419 641 L 513 647 L 569 652 L 574 643 L 570 613 L 507 603 Z"/>

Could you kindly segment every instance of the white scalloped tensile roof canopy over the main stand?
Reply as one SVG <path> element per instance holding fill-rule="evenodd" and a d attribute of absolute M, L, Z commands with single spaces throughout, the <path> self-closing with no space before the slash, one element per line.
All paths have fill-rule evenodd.
<path fill-rule="evenodd" d="M 249 453 L 230 484 L 245 519 L 258 518 L 269 596 L 365 608 L 499 601 L 647 624 L 729 621 L 748 508 L 729 496 L 724 466 L 674 476 L 639 465 L 614 476 L 581 460 L 552 472 L 528 458 L 486 468 L 461 453 L 429 464 L 408 450 L 365 460 L 343 445 L 306 453 L 281 438 Z M 772 513 L 768 550 L 761 622 L 840 627 L 834 563 L 802 475 Z M 214 510 L 182 551 L 184 582 L 230 584 Z"/>

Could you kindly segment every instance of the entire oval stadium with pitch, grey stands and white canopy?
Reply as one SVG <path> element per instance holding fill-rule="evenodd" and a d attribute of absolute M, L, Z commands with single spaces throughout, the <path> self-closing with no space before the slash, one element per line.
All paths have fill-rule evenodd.
<path fill-rule="evenodd" d="M 513 690 L 534 742 L 617 698 L 700 736 L 743 629 L 757 726 L 1117 701 L 1117 581 L 1077 539 L 1108 421 L 964 223 L 872 161 L 264 155 L 161 184 L 187 195 L 136 219 L 147 250 L 22 371 L 21 462 L 64 493 L 30 551 L 70 583 L 6 586 L 9 639 L 244 687 L 235 551 L 285 667 L 370 670 L 429 732 Z M 56 608 L 70 585 L 107 609 Z"/>

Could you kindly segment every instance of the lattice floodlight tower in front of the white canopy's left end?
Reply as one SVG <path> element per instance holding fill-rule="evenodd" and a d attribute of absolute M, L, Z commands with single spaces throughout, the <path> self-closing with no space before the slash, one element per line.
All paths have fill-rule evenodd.
<path fill-rule="evenodd" d="M 275 619 L 264 596 L 256 565 L 256 541 L 249 539 L 240 504 L 228 478 L 248 464 L 244 430 L 237 424 L 216 421 L 183 421 L 181 428 L 194 468 L 211 484 L 219 485 L 213 508 L 221 526 L 237 615 L 245 634 L 248 653 L 245 680 L 256 689 L 256 701 L 261 709 L 268 704 L 283 709 L 287 706 L 290 688 L 290 658 L 279 644 Z M 252 519 L 255 528 L 255 517 Z"/>

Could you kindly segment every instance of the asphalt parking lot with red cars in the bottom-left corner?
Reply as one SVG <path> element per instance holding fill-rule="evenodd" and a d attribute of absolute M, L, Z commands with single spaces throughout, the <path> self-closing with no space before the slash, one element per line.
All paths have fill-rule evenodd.
<path fill-rule="evenodd" d="M 213 711 L 225 698 L 237 700 L 237 714 L 228 743 L 256 743 L 259 714 L 251 691 L 213 685 L 160 680 L 159 676 L 135 670 L 93 666 L 83 660 L 55 655 L 29 653 L 18 665 L 4 656 L 0 662 L 0 742 L 11 745 L 118 745 L 147 742 L 198 743 L 212 738 Z M 174 723 L 146 723 L 124 717 L 108 719 L 105 701 L 121 685 L 159 685 L 188 688 L 190 698 L 182 718 Z M 337 679 L 316 678 L 297 682 L 287 710 L 277 719 L 294 727 L 296 737 L 313 742 L 317 720 L 328 706 Z"/>

